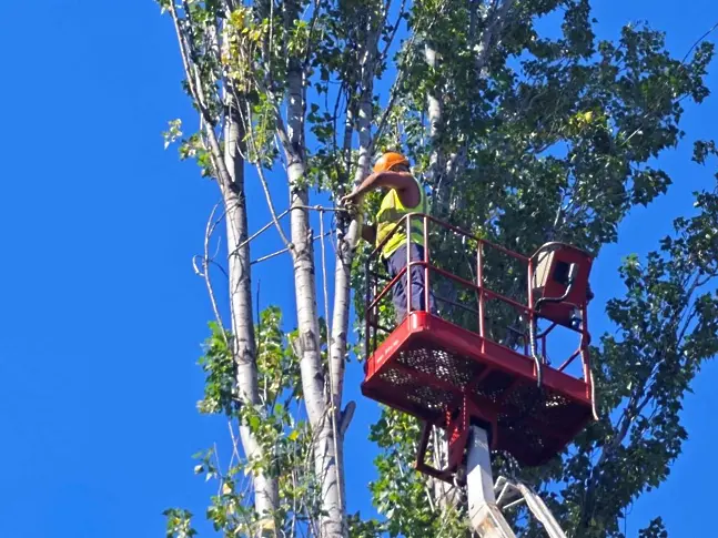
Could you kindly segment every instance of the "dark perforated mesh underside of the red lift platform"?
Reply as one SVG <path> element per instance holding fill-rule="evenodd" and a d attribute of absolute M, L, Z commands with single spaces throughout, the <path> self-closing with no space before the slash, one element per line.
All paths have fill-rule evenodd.
<path fill-rule="evenodd" d="M 446 352 L 414 339 L 376 372 L 363 392 L 431 422 L 461 406 L 462 394 L 495 417 L 497 448 L 525 465 L 540 465 L 562 450 L 590 420 L 590 406 L 534 379 L 498 369 L 479 358 Z M 484 410 L 482 410 L 484 413 Z"/>

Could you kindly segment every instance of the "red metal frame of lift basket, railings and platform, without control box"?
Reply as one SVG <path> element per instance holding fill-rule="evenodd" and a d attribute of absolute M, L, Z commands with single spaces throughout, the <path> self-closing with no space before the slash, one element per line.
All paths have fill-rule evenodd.
<path fill-rule="evenodd" d="M 517 458 L 527 465 L 538 465 L 559 451 L 590 420 L 593 410 L 593 388 L 590 376 L 590 359 L 588 356 L 589 334 L 587 329 L 587 312 L 586 305 L 580 305 L 583 315 L 583 324 L 580 329 L 575 331 L 580 335 L 579 346 L 568 359 L 566 359 L 558 368 L 552 368 L 544 364 L 543 370 L 543 390 L 546 394 L 555 395 L 567 402 L 567 406 L 572 409 L 572 420 L 568 424 L 556 424 L 553 430 L 547 430 L 542 426 L 542 449 L 538 451 L 528 453 L 525 447 L 518 446 L 520 443 L 512 439 L 509 436 L 502 436 L 500 427 L 497 427 L 497 422 L 502 417 L 502 406 L 507 400 L 516 396 L 514 393 L 517 390 L 526 390 L 530 384 L 535 385 L 537 378 L 536 365 L 533 357 L 528 356 L 527 337 L 524 334 L 524 351 L 519 353 L 515 349 L 506 347 L 502 344 L 489 339 L 485 313 L 487 300 L 497 300 L 505 304 L 510 305 L 517 312 L 520 312 L 528 318 L 528 323 L 534 323 L 534 319 L 540 317 L 540 314 L 535 309 L 534 288 L 532 285 L 532 274 L 534 270 L 533 256 L 526 257 L 522 254 L 513 253 L 499 245 L 489 243 L 485 240 L 476 237 L 456 226 L 452 226 L 442 221 L 438 221 L 429 215 L 413 213 L 404 217 L 406 237 L 411 236 L 411 220 L 421 219 L 423 224 L 424 235 L 424 261 L 412 262 L 409 258 L 409 248 L 407 251 L 407 264 L 404 270 L 384 286 L 377 293 L 376 278 L 372 278 L 376 272 L 371 271 L 371 264 L 376 262 L 378 253 L 383 244 L 378 245 L 366 262 L 366 324 L 365 324 L 365 356 L 368 357 L 365 364 L 366 377 L 362 384 L 362 392 L 365 396 L 382 402 L 391 407 L 397 408 L 405 413 L 412 414 L 425 420 L 425 435 L 422 435 L 418 450 L 417 468 L 424 473 L 436 476 L 441 479 L 449 479 L 451 475 L 457 467 L 457 454 L 463 450 L 465 446 L 464 429 L 467 420 L 471 418 L 478 418 L 483 423 L 492 425 L 493 445 L 494 448 L 505 449 L 517 456 Z M 468 282 L 456 275 L 453 275 L 431 263 L 429 236 L 428 226 L 435 224 L 449 230 L 456 234 L 463 235 L 476 242 L 476 283 Z M 400 229 L 400 223 L 394 229 L 393 233 Z M 390 234 L 384 242 L 388 241 L 392 236 Z M 408 243 L 408 240 L 407 240 Z M 496 250 L 505 255 L 517 260 L 527 266 L 527 297 L 528 304 L 522 304 L 518 301 L 503 296 L 492 290 L 486 288 L 484 285 L 484 256 L 485 248 Z M 411 286 L 411 268 L 414 265 L 422 266 L 424 270 L 424 304 L 429 304 L 429 276 L 432 273 L 437 273 L 447 277 L 463 286 L 474 290 L 478 297 L 478 319 L 477 332 L 467 331 L 458 327 L 441 317 L 433 315 L 428 312 L 411 312 L 412 305 L 412 286 Z M 377 345 L 377 331 L 376 331 L 376 311 L 378 304 L 384 300 L 390 290 L 400 282 L 401 278 L 406 278 L 405 293 L 407 301 L 407 312 L 411 314 L 401 323 L 388 337 Z M 546 348 L 546 337 L 553 332 L 556 324 L 552 324 L 543 334 L 537 335 L 537 341 L 540 342 L 542 349 Z M 476 379 L 472 379 L 466 386 L 458 387 L 451 383 L 444 382 L 424 372 L 412 369 L 398 363 L 397 357 L 402 353 L 414 348 L 423 349 L 438 349 L 442 353 L 453 354 L 452 356 L 459 357 L 461 361 L 468 361 L 466 364 L 475 362 L 481 365 L 483 372 Z M 583 362 L 584 379 L 577 379 L 564 373 L 565 368 L 575 361 L 578 356 Z M 383 373 L 387 368 L 392 368 L 403 375 L 409 376 L 418 380 L 423 386 L 443 392 L 443 394 L 451 394 L 449 402 L 446 403 L 445 408 L 428 412 L 419 405 L 413 405 L 402 394 L 401 386 L 393 386 L 383 379 Z M 487 398 L 472 393 L 478 389 L 479 385 L 491 375 L 499 373 L 500 375 L 509 376 L 513 379 L 506 390 L 500 395 L 497 402 L 489 402 Z M 454 416 L 455 418 L 451 418 Z M 461 418 L 461 420 L 459 420 Z M 458 422 L 457 422 L 458 420 Z M 532 425 L 532 417 L 523 417 L 523 423 Z M 453 439 L 451 446 L 452 460 L 449 467 L 444 470 L 437 470 L 424 463 L 424 454 L 428 443 L 428 425 L 437 425 L 447 430 L 449 440 Z M 463 440 L 462 440 L 463 439 Z M 463 444 L 462 444 L 463 443 Z"/>

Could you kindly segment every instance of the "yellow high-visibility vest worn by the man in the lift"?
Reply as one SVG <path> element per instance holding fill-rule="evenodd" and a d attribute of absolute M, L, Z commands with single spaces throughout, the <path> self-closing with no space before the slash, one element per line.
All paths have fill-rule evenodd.
<path fill-rule="evenodd" d="M 378 213 L 376 214 L 376 246 L 378 246 L 384 237 L 392 233 L 396 227 L 397 222 L 406 215 L 407 213 L 426 213 L 426 194 L 422 184 L 414 177 L 416 186 L 418 186 L 419 201 L 418 204 L 414 207 L 404 207 L 402 201 L 398 197 L 395 189 L 392 189 L 386 193 L 382 200 L 382 205 L 380 206 Z M 411 220 L 411 231 L 412 231 L 412 243 L 418 245 L 424 244 L 424 225 L 421 219 Z M 382 247 L 382 254 L 384 257 L 390 257 L 396 248 L 398 248 L 403 243 L 406 243 L 406 221 L 402 221 L 400 224 L 400 230 L 394 233 L 390 240 Z"/>

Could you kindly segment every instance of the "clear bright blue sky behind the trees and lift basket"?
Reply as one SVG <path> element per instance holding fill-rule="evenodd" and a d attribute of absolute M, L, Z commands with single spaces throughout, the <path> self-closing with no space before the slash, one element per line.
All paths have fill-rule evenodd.
<path fill-rule="evenodd" d="M 668 32 L 676 55 L 718 21 L 714 0 L 596 0 L 600 37 L 628 20 Z M 202 246 L 215 186 L 192 163 L 162 149 L 166 120 L 191 118 L 180 90 L 170 20 L 151 0 L 3 2 L 0 102 L 4 129 L 0 191 L 0 536 L 156 538 L 170 506 L 203 517 L 212 488 L 190 456 L 224 444 L 222 419 L 195 412 L 195 365 L 211 318 L 203 282 L 190 264 Z M 29 11 L 26 11 L 30 8 Z M 718 91 L 716 64 L 710 87 Z M 690 210 L 690 191 L 712 170 L 688 161 L 691 141 L 715 135 L 718 98 L 689 106 L 688 140 L 661 164 L 675 185 L 621 226 L 595 271 L 600 303 L 618 293 L 615 267 L 646 252 L 670 219 Z M 264 200 L 250 180 L 253 207 Z M 277 206 L 285 205 L 283 189 Z M 266 222 L 252 215 L 253 229 Z M 253 254 L 273 250 L 273 241 Z M 293 322 L 290 265 L 262 265 L 261 303 Z M 600 324 L 596 328 L 601 328 Z M 367 509 L 376 415 L 352 369 L 346 398 L 358 403 L 347 439 L 348 501 Z M 718 366 L 709 364 L 686 400 L 690 440 L 671 477 L 634 508 L 629 536 L 663 515 L 671 537 L 695 536 L 711 514 Z M 203 529 L 206 527 L 202 526 Z"/>

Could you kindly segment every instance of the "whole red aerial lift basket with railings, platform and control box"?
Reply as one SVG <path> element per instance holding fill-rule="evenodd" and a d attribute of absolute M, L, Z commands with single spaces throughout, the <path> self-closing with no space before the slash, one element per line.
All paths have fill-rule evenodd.
<path fill-rule="evenodd" d="M 447 479 L 459 465 L 469 422 L 486 427 L 493 448 L 520 464 L 546 463 L 595 417 L 586 326 L 590 256 L 548 243 L 526 257 L 418 213 L 405 216 L 394 232 L 404 225 L 407 230 L 409 220 L 423 223 L 423 260 L 391 280 L 382 274 L 381 247 L 366 263 L 368 358 L 362 393 L 424 420 L 417 468 L 439 478 Z M 458 241 L 471 264 L 453 260 L 452 267 L 472 265 L 473 278 L 432 260 L 429 243 L 437 241 L 444 247 L 447 241 Z M 415 305 L 397 326 L 382 327 L 378 312 L 392 307 L 397 286 L 406 290 L 406 308 L 412 309 L 417 293 L 407 285 L 412 270 L 423 273 L 427 285 L 422 304 L 433 302 L 433 312 Z M 510 281 L 506 275 L 515 275 L 513 283 L 518 283 L 513 297 L 509 291 L 491 288 L 492 282 Z M 382 278 L 388 284 L 380 286 Z M 446 288 L 454 290 L 452 297 L 439 294 Z M 505 323 L 509 319 L 514 326 Z M 540 333 L 539 322 L 547 325 Z M 577 336 L 578 347 L 554 366 L 546 357 L 547 338 L 556 339 L 554 329 L 559 326 Z M 567 368 L 577 357 L 583 367 L 574 376 Z M 447 432 L 445 471 L 423 463 L 431 426 Z"/>

